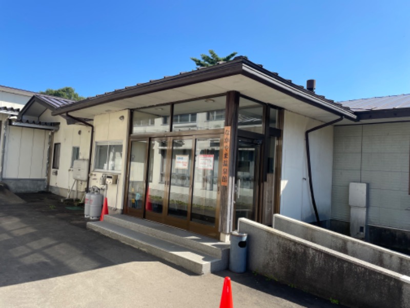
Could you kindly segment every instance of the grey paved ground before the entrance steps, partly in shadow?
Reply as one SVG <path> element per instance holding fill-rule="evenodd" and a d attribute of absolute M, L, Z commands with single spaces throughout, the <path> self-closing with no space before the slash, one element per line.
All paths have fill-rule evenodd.
<path fill-rule="evenodd" d="M 335 306 L 257 273 L 196 276 L 38 207 L 0 204 L 0 307 L 219 307 L 225 276 L 235 308 Z"/>

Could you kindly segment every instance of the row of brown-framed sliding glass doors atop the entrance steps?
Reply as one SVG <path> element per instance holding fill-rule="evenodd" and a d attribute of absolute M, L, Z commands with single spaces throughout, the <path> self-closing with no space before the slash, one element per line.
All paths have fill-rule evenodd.
<path fill-rule="evenodd" d="M 127 213 L 218 236 L 221 134 L 132 139 Z"/>

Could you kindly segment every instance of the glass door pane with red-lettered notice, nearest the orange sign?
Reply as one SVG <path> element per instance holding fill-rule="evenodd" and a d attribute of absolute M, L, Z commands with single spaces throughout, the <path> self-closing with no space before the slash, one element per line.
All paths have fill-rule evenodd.
<path fill-rule="evenodd" d="M 197 139 L 191 220 L 215 225 L 219 139 Z"/>

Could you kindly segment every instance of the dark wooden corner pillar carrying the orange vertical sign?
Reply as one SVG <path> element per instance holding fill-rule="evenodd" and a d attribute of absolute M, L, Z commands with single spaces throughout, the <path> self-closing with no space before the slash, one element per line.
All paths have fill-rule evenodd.
<path fill-rule="evenodd" d="M 221 185 L 220 188 L 220 214 L 219 214 L 219 232 L 227 235 L 232 232 L 234 218 L 234 200 L 235 200 L 235 173 L 236 173 L 236 155 L 238 143 L 238 109 L 239 109 L 239 92 L 229 91 L 227 93 L 227 105 L 225 109 L 225 126 L 231 127 L 231 142 L 229 149 L 229 172 L 228 185 Z"/>

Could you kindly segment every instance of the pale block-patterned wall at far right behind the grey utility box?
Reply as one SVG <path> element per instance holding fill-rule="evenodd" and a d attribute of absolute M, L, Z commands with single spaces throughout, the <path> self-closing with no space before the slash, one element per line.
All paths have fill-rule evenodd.
<path fill-rule="evenodd" d="M 350 220 L 348 183 L 369 184 L 368 224 L 410 229 L 410 122 L 337 126 L 332 219 Z"/>

